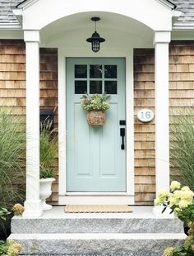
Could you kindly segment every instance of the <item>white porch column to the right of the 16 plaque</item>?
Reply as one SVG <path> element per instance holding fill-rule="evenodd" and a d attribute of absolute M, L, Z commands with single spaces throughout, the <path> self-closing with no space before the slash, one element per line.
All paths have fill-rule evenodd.
<path fill-rule="evenodd" d="M 169 42 L 170 32 L 155 32 L 155 183 L 169 190 Z"/>

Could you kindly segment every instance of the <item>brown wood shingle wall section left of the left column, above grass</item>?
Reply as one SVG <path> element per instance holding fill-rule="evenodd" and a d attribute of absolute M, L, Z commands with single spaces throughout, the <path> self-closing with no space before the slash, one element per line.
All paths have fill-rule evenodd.
<path fill-rule="evenodd" d="M 25 115 L 25 44 L 0 40 L 0 105 Z"/>

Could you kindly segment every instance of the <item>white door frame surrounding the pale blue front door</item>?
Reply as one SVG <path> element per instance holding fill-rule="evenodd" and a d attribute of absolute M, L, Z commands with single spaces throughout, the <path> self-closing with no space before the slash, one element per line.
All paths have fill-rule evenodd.
<path fill-rule="evenodd" d="M 115 53 L 116 52 L 116 53 Z M 80 54 L 81 53 L 81 54 Z M 126 59 L 126 171 L 127 192 L 67 192 L 66 188 L 66 58 L 98 57 Z M 134 90 L 133 49 L 106 55 L 88 55 L 83 50 L 58 49 L 58 204 L 134 204 Z"/>

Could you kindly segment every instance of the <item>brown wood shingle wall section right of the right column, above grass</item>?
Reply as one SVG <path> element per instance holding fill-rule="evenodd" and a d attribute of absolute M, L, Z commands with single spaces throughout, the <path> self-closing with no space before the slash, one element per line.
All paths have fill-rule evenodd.
<path fill-rule="evenodd" d="M 194 106 L 194 41 L 172 41 L 169 48 L 170 113 Z"/>

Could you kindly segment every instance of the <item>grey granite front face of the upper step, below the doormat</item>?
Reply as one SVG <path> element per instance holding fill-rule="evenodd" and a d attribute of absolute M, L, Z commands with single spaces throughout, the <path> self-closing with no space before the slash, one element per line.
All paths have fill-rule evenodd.
<path fill-rule="evenodd" d="M 178 219 L 130 217 L 62 217 L 21 218 L 13 217 L 12 234 L 59 233 L 182 233 Z"/>

